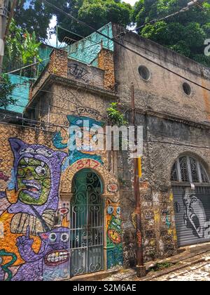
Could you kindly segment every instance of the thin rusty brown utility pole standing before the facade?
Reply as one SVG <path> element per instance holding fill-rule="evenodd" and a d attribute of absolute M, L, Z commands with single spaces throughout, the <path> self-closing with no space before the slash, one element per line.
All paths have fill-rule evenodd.
<path fill-rule="evenodd" d="M 132 84 L 132 125 L 136 127 L 135 115 L 135 98 L 134 98 L 134 85 Z M 137 144 L 137 135 L 135 132 L 135 141 Z M 142 224 L 141 224 L 141 195 L 139 188 L 139 176 L 141 171 L 141 159 L 134 158 L 134 195 L 136 199 L 136 216 L 137 216 L 137 277 L 146 276 L 146 267 L 144 266 L 144 252 L 142 243 Z"/>

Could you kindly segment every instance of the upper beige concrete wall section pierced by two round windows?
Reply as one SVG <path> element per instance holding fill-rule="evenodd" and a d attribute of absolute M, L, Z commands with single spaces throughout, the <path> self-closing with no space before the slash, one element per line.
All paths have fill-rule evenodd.
<path fill-rule="evenodd" d="M 120 29 L 117 26 L 113 27 L 114 36 L 118 36 Z M 207 67 L 132 32 L 126 31 L 125 35 L 118 37 L 117 40 L 155 63 L 201 86 L 210 88 L 210 70 Z M 127 103 L 130 99 L 130 86 L 133 83 L 137 107 L 173 114 L 196 122 L 209 121 L 209 91 L 172 74 L 118 44 L 115 44 L 114 60 L 116 84 L 123 103 Z M 149 81 L 140 77 L 140 65 L 146 66 L 151 72 Z M 190 96 L 183 92 L 184 82 L 191 86 Z"/>

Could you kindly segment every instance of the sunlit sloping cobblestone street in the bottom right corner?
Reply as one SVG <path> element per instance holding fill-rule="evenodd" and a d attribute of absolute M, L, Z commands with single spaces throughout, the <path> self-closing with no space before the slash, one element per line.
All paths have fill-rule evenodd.
<path fill-rule="evenodd" d="M 148 275 L 141 279 L 136 276 L 135 270 L 126 270 L 106 277 L 102 281 L 210 281 L 209 246 L 210 243 L 186 247 L 181 254 L 167 258 L 165 261 L 158 261 L 172 263 L 172 267 L 157 272 L 148 271 Z M 147 270 L 150 266 L 151 263 L 146 263 Z"/>

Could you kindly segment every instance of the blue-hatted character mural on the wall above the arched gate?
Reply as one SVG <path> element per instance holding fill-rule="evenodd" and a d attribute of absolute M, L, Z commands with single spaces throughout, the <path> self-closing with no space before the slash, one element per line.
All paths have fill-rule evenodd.
<path fill-rule="evenodd" d="M 67 116 L 69 120 L 69 126 L 76 126 L 80 128 L 80 132 L 76 134 L 78 138 L 83 140 L 83 132 L 84 131 L 90 131 L 92 127 L 94 127 L 95 130 L 101 129 L 104 126 L 104 122 L 96 121 L 95 119 L 89 118 L 89 117 L 75 117 L 75 116 Z M 88 124 L 87 124 L 88 123 Z M 87 125 L 87 126 L 86 126 Z M 86 127 L 85 127 L 86 126 Z M 69 134 L 69 138 L 72 136 Z M 99 162 L 100 164 L 103 164 L 102 157 L 99 155 L 96 155 L 91 144 L 90 140 L 93 140 L 94 142 L 97 141 L 97 135 L 94 134 L 90 136 L 91 138 L 88 138 L 87 143 L 83 141 L 82 146 L 77 148 L 76 150 L 71 150 L 68 147 L 68 143 L 63 143 L 64 138 L 62 137 L 62 133 L 60 131 L 56 132 L 52 138 L 52 142 L 54 146 L 58 150 L 64 150 L 66 148 L 69 148 L 69 158 L 66 159 L 66 162 L 64 164 L 64 167 L 66 168 L 75 162 L 78 162 L 82 159 L 92 159 L 96 162 Z M 76 145 L 76 140 L 72 143 L 73 145 Z"/>

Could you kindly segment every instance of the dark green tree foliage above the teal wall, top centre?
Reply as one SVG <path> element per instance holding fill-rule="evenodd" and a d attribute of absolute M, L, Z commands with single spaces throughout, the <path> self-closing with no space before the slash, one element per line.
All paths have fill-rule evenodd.
<path fill-rule="evenodd" d="M 51 2 L 54 0 L 51 0 Z M 68 5 L 66 4 L 68 2 Z M 67 13 L 71 13 L 75 18 L 79 18 L 88 25 L 99 29 L 108 22 L 116 22 L 120 25 L 129 25 L 132 16 L 132 6 L 119 0 L 71 0 L 61 1 L 59 7 Z M 71 32 L 76 32 L 81 36 L 87 36 L 92 33 L 91 29 L 65 18 L 62 13 L 57 13 L 58 25 Z M 59 41 L 64 37 L 72 37 L 66 32 L 59 32 Z"/>

